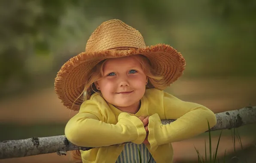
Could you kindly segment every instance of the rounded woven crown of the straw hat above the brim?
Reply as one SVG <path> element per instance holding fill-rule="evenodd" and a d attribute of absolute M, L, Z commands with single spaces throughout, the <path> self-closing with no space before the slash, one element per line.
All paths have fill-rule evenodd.
<path fill-rule="evenodd" d="M 102 23 L 89 37 L 85 52 L 114 48 L 145 48 L 140 32 L 124 22 L 113 19 Z"/>

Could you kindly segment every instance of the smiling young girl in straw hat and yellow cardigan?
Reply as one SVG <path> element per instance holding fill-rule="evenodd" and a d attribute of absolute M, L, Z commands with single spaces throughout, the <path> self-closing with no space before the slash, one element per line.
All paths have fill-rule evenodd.
<path fill-rule="evenodd" d="M 146 47 L 143 37 L 120 20 L 102 23 L 85 52 L 65 63 L 55 79 L 64 106 L 79 110 L 66 127 L 67 139 L 82 147 L 82 163 L 172 163 L 171 143 L 191 138 L 216 124 L 214 113 L 162 90 L 185 69 L 169 45 Z M 163 125 L 161 120 L 175 119 Z M 125 143 L 129 142 L 129 143 Z M 81 152 L 81 153 L 80 153 Z"/>

